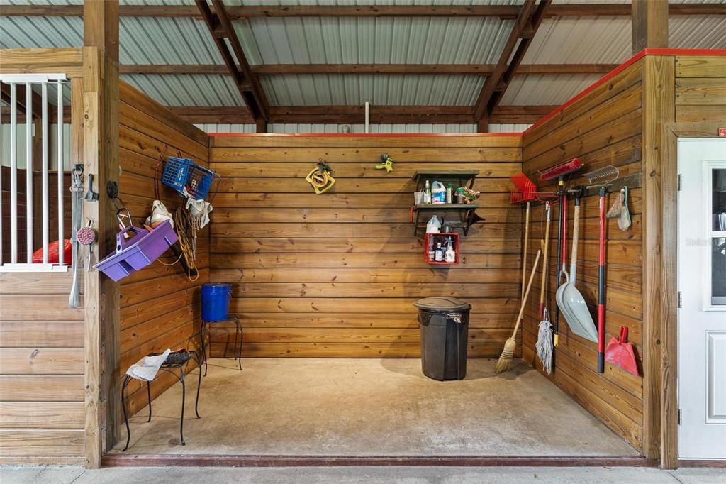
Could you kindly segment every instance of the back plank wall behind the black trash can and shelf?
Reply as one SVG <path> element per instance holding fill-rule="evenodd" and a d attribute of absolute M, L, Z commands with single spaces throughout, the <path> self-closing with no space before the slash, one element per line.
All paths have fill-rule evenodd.
<path fill-rule="evenodd" d="M 374 169 L 381 153 L 395 169 Z M 337 184 L 304 180 L 322 158 Z M 417 358 L 412 302 L 447 295 L 473 304 L 469 355 L 492 358 L 513 327 L 520 295 L 521 210 L 509 177 L 521 137 L 216 137 L 221 174 L 211 223 L 211 280 L 232 283 L 248 357 Z M 462 238 L 462 263 L 432 269 L 409 221 L 412 174 L 478 169 L 486 222 Z M 231 356 L 234 331 L 213 334 Z"/>

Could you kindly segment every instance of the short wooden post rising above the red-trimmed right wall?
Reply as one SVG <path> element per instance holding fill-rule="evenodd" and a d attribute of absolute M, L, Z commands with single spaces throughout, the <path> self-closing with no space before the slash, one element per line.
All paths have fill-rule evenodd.
<path fill-rule="evenodd" d="M 668 47 L 668 1 L 634 0 L 631 8 L 633 54 Z"/>

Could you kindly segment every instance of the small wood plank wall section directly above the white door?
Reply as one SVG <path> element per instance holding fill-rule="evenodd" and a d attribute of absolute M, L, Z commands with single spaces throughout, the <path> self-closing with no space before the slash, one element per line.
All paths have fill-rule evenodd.
<path fill-rule="evenodd" d="M 676 122 L 722 126 L 726 116 L 726 57 L 681 55 L 675 62 Z"/>

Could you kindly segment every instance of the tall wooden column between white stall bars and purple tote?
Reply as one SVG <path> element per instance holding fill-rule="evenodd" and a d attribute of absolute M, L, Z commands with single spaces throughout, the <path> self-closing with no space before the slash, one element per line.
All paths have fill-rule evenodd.
<path fill-rule="evenodd" d="M 83 4 L 83 181 L 94 174 L 98 201 L 83 201 L 83 217 L 99 234 L 94 261 L 115 251 L 118 228 L 107 182 L 118 182 L 118 0 Z M 84 187 L 86 190 L 88 187 Z M 85 193 L 85 192 L 84 192 Z M 85 251 L 81 251 L 84 254 Z M 102 453 L 118 440 L 118 284 L 98 270 L 85 271 L 86 467 L 99 467 Z"/>

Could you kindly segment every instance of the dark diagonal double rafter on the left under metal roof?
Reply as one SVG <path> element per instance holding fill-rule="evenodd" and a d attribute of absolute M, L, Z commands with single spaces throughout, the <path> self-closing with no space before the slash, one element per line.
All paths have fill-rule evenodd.
<path fill-rule="evenodd" d="M 207 0 L 196 0 L 196 2 L 197 8 L 202 14 L 209 32 L 214 39 L 214 43 L 217 49 L 219 49 L 225 65 L 227 65 L 227 70 L 234 79 L 235 86 L 237 86 L 240 94 L 242 94 L 245 105 L 248 106 L 256 122 L 266 121 L 268 116 L 267 98 L 262 90 L 259 79 L 250 69 L 247 56 L 242 49 L 240 39 L 237 38 L 237 33 L 234 32 L 234 27 L 227 15 L 224 2 L 221 0 L 213 0 L 214 11 L 209 7 Z M 234 55 L 230 52 L 227 42 L 232 47 Z"/>

